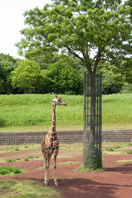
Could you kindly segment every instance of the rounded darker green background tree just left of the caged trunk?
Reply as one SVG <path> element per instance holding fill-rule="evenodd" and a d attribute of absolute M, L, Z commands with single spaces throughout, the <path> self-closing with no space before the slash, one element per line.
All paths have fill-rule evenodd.
<path fill-rule="evenodd" d="M 49 65 L 48 77 L 53 80 L 52 91 L 55 93 L 83 93 L 83 79 L 77 69 L 67 62 L 58 61 Z"/>

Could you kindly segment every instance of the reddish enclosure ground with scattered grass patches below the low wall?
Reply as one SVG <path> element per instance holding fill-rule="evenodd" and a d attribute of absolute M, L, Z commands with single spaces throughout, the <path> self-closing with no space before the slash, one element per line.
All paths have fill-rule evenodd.
<path fill-rule="evenodd" d="M 57 159 L 56 191 L 61 198 L 130 198 L 132 195 L 132 143 L 103 143 L 104 171 L 85 173 L 82 165 L 82 144 L 61 144 Z M 0 167 L 19 167 L 26 171 L 0 176 L 0 180 L 31 179 L 43 185 L 43 158 L 40 145 L 0 146 Z M 53 159 L 49 177 L 54 187 Z M 45 188 L 45 186 L 43 187 Z M 1 192 L 0 192 L 1 193 Z"/>

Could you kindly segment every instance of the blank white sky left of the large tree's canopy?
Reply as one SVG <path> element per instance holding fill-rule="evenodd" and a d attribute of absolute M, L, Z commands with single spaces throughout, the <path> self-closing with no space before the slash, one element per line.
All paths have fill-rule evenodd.
<path fill-rule="evenodd" d="M 21 58 L 15 43 L 22 38 L 20 30 L 25 27 L 23 13 L 35 7 L 41 9 L 46 3 L 51 0 L 0 0 L 0 53 Z"/>

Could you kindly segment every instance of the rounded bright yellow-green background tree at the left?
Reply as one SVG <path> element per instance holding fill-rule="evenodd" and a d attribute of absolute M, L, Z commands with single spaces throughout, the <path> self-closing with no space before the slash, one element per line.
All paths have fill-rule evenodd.
<path fill-rule="evenodd" d="M 31 92 L 39 80 L 40 67 L 31 60 L 20 60 L 17 64 L 18 67 L 11 72 L 12 86 L 20 88 L 24 93 Z"/>

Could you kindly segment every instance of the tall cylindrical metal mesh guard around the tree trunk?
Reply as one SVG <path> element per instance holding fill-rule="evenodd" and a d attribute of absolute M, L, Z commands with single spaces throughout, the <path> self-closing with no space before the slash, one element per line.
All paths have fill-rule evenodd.
<path fill-rule="evenodd" d="M 84 75 L 83 163 L 89 168 L 102 167 L 102 75 Z"/>

